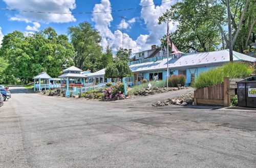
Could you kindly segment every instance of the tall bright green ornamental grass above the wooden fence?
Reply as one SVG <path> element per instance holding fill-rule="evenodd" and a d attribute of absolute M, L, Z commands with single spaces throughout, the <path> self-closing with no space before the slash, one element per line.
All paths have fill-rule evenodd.
<path fill-rule="evenodd" d="M 244 63 L 229 63 L 219 68 L 213 68 L 200 73 L 195 79 L 193 87 L 200 89 L 223 82 L 224 77 L 243 78 L 254 72 L 252 66 Z"/>

